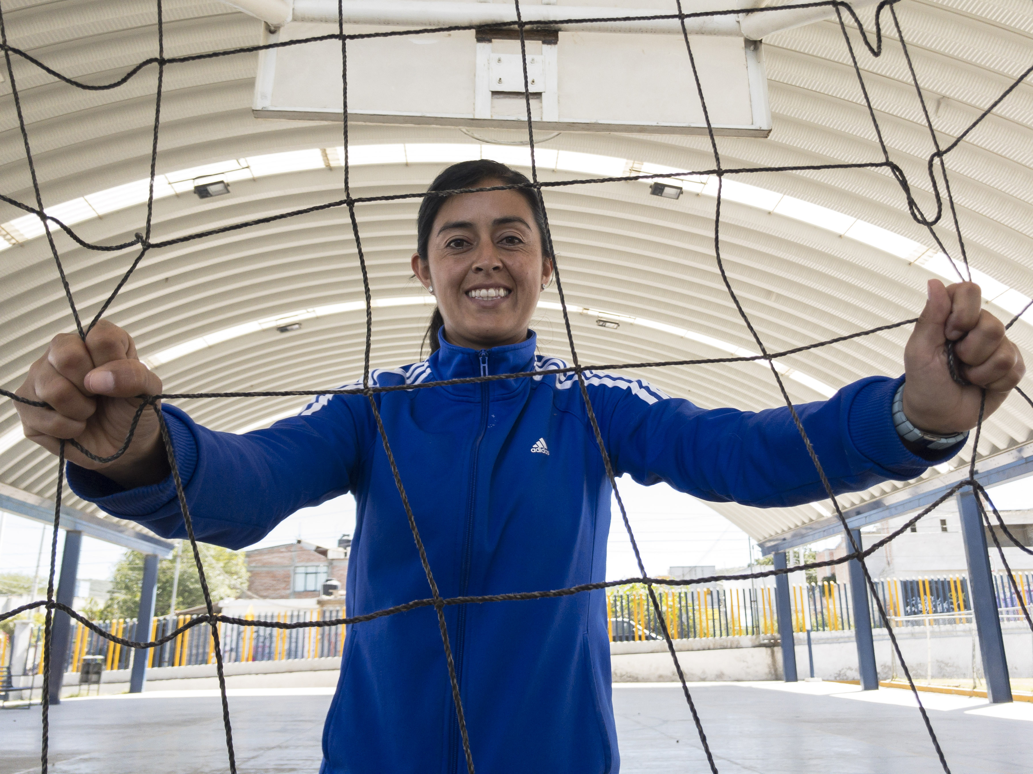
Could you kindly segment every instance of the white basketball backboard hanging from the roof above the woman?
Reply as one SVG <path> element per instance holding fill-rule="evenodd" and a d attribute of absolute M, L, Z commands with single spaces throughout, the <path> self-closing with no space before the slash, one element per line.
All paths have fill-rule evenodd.
<path fill-rule="evenodd" d="M 654 15 L 638 7 L 528 5 L 528 13 L 564 19 L 592 13 Z M 325 7 L 322 7 L 325 5 Z M 618 7 L 621 6 L 621 7 Z M 344 0 L 349 34 L 479 25 L 478 29 L 348 41 L 348 120 L 356 123 L 521 128 L 524 71 L 509 4 Z M 566 14 L 566 15 L 565 15 Z M 598 18 L 598 17 L 595 17 Z M 528 14 L 525 14 L 528 19 Z M 311 21 L 316 20 L 316 21 Z M 333 20 L 333 21 L 331 21 Z M 267 26 L 267 42 L 337 32 L 337 2 L 296 0 L 291 21 Z M 377 22 L 368 24 L 366 22 Z M 699 24 L 689 40 L 715 132 L 766 136 L 771 131 L 762 46 L 732 18 Z M 677 20 L 634 24 L 552 24 L 525 31 L 531 112 L 537 129 L 663 134 L 707 131 L 685 39 Z M 258 118 L 341 120 L 341 45 L 323 40 L 263 51 L 255 84 Z"/>

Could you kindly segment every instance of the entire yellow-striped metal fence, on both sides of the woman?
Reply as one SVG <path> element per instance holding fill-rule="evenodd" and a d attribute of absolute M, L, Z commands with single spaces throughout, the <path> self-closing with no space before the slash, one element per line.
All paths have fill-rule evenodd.
<path fill-rule="evenodd" d="M 1002 620 L 1021 616 L 1020 598 L 1033 604 L 1033 573 L 1014 574 L 1019 593 L 1003 573 L 994 576 L 997 605 Z M 893 578 L 876 581 L 879 599 L 895 626 L 967 623 L 971 621 L 968 579 L 965 576 L 939 578 Z M 675 639 L 743 637 L 774 635 L 778 616 L 773 587 L 757 588 L 656 588 L 660 609 L 670 636 Z M 850 589 L 846 583 L 809 583 L 791 586 L 794 632 L 807 630 L 810 620 L 814 632 L 842 632 L 853 628 Z M 871 596 L 871 592 L 869 592 Z M 874 602 L 869 599 L 872 625 L 881 627 Z M 606 595 L 607 626 L 613 642 L 662 640 L 663 636 L 653 604 L 644 586 L 612 589 Z M 248 612 L 250 620 L 276 620 L 285 623 L 333 620 L 344 616 L 341 608 L 293 610 L 286 612 Z M 188 623 L 196 616 L 180 615 L 156 618 L 149 640 L 157 640 Z M 98 621 L 104 632 L 126 639 L 139 639 L 133 618 Z M 226 663 L 269 662 L 290 658 L 340 656 L 344 650 L 344 627 L 264 628 L 236 623 L 219 624 L 219 640 Z M 71 625 L 67 671 L 79 672 L 83 657 L 103 656 L 105 670 L 128 669 L 132 650 L 100 637 L 77 621 Z M 199 624 L 187 630 L 160 648 L 148 651 L 149 667 L 185 667 L 213 664 L 213 640 L 210 628 Z M 0 632 L 0 666 L 10 660 L 10 638 Z M 35 624 L 29 636 L 26 671 L 39 674 L 43 668 L 43 626 Z"/>

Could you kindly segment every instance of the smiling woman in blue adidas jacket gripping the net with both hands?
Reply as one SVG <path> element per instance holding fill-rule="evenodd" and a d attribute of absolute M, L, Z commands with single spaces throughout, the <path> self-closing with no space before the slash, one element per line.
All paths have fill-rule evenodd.
<path fill-rule="evenodd" d="M 443 171 L 431 190 L 526 183 L 501 164 L 472 161 Z M 433 352 L 375 370 L 373 382 L 562 365 L 535 354 L 527 327 L 552 275 L 532 190 L 426 197 L 417 237 L 412 270 L 438 301 Z M 960 387 L 945 366 L 946 341 L 963 335 L 957 355 L 968 379 L 988 388 L 990 414 L 1022 377 L 1019 351 L 981 310 L 976 286 L 936 281 L 905 351 L 906 382 L 863 379 L 829 400 L 797 407 L 837 491 L 914 478 L 958 451 L 980 399 L 978 387 Z M 641 380 L 585 377 L 618 475 L 759 507 L 826 496 L 785 408 L 703 411 Z M 893 402 L 902 384 L 897 427 Z M 102 324 L 85 344 L 57 336 L 30 369 L 19 394 L 55 411 L 19 411 L 26 436 L 49 450 L 73 438 L 107 455 L 126 436 L 132 396 L 160 391 L 129 335 Z M 375 400 L 443 596 L 604 579 L 611 487 L 575 377 L 379 392 Z M 296 509 L 350 491 L 357 510 L 347 614 L 430 595 L 365 396 L 321 396 L 299 416 L 243 436 L 200 427 L 179 408 L 162 411 L 199 539 L 240 548 Z M 185 536 L 150 412 L 115 462 L 70 451 L 68 481 L 113 515 Z M 618 770 L 602 591 L 448 607 L 445 617 L 478 770 Z M 323 772 L 465 770 L 432 608 L 350 627 L 323 754 Z"/>

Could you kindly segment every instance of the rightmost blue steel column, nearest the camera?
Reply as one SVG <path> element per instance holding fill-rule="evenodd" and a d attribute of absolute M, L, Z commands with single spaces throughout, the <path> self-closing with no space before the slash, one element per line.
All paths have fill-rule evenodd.
<path fill-rule="evenodd" d="M 962 541 L 969 569 L 969 600 L 972 618 L 979 638 L 982 655 L 982 674 L 987 679 L 987 698 L 992 704 L 1011 701 L 1011 680 L 1008 679 L 1008 662 L 1004 656 L 1004 638 L 1001 619 L 997 613 L 997 594 L 994 593 L 994 575 L 987 553 L 987 533 L 975 495 L 969 488 L 958 497 L 958 514 L 962 522 Z"/>

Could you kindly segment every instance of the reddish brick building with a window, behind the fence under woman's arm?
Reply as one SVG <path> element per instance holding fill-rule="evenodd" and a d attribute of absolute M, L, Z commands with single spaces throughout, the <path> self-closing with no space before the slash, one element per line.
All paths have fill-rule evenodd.
<path fill-rule="evenodd" d="M 304 600 L 319 595 L 327 578 L 341 582 L 348 575 L 349 536 L 337 548 L 299 540 L 282 546 L 247 551 L 249 594 L 263 600 Z"/>

